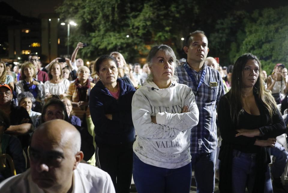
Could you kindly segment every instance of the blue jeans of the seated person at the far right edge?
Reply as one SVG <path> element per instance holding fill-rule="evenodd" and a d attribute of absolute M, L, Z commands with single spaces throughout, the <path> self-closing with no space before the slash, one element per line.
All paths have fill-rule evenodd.
<path fill-rule="evenodd" d="M 276 142 L 274 148 L 271 148 L 271 155 L 275 157 L 275 161 L 271 167 L 271 174 L 273 179 L 281 177 L 284 172 L 287 159 L 288 159 L 288 152 L 285 151 L 283 146 Z"/>

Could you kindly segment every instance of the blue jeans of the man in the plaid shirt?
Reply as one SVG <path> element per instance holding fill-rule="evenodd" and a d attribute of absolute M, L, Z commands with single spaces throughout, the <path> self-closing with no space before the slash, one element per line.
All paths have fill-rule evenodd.
<path fill-rule="evenodd" d="M 197 193 L 212 193 L 215 187 L 216 150 L 211 153 L 191 154 Z"/>

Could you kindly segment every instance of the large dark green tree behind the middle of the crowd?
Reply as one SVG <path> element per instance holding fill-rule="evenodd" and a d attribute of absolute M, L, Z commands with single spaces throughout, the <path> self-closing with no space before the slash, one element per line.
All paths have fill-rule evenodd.
<path fill-rule="evenodd" d="M 213 18 L 225 16 L 235 4 L 232 0 L 225 4 L 220 0 L 64 0 L 57 12 L 61 19 L 79 24 L 70 32 L 74 45 L 89 43 L 79 54 L 93 59 L 119 51 L 130 61 L 146 56 L 155 43 L 168 44 L 183 57 L 181 38 L 197 29 L 213 28 Z"/>

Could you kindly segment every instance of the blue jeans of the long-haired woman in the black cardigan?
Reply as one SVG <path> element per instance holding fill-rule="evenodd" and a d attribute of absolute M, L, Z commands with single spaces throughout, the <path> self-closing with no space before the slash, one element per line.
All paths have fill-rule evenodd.
<path fill-rule="evenodd" d="M 232 190 L 233 193 L 244 193 L 246 186 L 248 192 L 253 191 L 256 177 L 256 154 L 242 153 L 233 150 L 232 160 Z M 220 168 L 221 169 L 221 168 Z M 265 173 L 264 193 L 273 193 L 270 177 L 270 168 L 267 164 Z"/>

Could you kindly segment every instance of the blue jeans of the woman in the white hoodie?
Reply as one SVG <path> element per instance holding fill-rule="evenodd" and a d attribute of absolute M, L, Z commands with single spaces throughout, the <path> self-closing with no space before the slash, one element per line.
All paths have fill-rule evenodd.
<path fill-rule="evenodd" d="M 176 169 L 160 168 L 142 162 L 133 155 L 133 179 L 138 193 L 189 193 L 191 163 Z"/>

